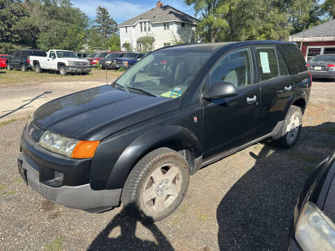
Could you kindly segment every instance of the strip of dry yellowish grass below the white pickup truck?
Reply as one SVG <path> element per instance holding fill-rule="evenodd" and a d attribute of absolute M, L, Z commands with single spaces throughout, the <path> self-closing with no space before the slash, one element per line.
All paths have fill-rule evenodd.
<path fill-rule="evenodd" d="M 8 84 L 41 84 L 47 82 L 66 82 L 66 81 L 85 81 L 85 80 L 105 80 L 106 71 L 93 68 L 89 75 L 67 75 L 61 76 L 58 73 L 35 73 L 32 70 L 22 72 L 20 70 L 0 70 L 2 73 L 0 86 L 8 86 Z M 115 79 L 121 75 L 117 70 L 107 70 L 107 78 Z"/>

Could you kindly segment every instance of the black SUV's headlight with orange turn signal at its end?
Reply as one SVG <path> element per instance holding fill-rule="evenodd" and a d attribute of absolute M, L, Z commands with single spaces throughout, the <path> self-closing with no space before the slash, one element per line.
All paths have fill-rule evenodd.
<path fill-rule="evenodd" d="M 92 158 L 99 141 L 78 141 L 45 131 L 38 144 L 43 148 L 68 158 Z"/>

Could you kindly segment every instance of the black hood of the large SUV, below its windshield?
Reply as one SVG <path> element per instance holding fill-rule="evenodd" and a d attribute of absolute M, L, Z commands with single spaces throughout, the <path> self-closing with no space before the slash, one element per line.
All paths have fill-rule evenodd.
<path fill-rule="evenodd" d="M 166 105 L 166 102 L 175 105 Z M 146 96 L 105 85 L 47 102 L 34 113 L 34 123 L 43 130 L 73 139 L 101 140 L 177 107 L 170 98 Z"/>

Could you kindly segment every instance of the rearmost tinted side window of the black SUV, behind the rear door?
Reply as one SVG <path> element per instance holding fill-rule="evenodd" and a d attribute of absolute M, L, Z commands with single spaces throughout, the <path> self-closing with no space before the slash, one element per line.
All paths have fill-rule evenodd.
<path fill-rule="evenodd" d="M 307 70 L 306 61 L 296 45 L 277 45 L 283 59 L 285 60 L 288 71 L 291 75 L 303 73 Z"/>

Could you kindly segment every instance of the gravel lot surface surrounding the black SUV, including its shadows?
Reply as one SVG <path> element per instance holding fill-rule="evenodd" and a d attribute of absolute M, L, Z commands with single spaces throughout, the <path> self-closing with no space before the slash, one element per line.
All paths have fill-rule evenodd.
<path fill-rule="evenodd" d="M 74 91 L 62 86 L 59 95 Z M 43 89 L 49 90 L 35 86 L 30 91 L 38 96 Z M 0 90 L 0 100 L 6 93 Z M 20 102 L 31 98 L 25 91 L 8 93 Z M 256 144 L 201 169 L 191 177 L 177 211 L 156 225 L 131 219 L 121 207 L 90 214 L 43 199 L 17 172 L 27 119 L 0 123 L 0 250 L 287 250 L 304 180 L 335 149 L 334 96 L 335 83 L 313 82 L 296 146 Z"/>

